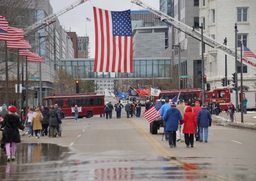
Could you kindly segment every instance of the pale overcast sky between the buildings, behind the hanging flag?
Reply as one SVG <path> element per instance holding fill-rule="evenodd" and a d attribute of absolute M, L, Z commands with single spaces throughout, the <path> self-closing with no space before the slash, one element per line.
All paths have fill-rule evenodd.
<path fill-rule="evenodd" d="M 57 11 L 63 10 L 67 6 L 74 4 L 77 2 L 77 0 L 50 0 L 50 2 L 53 8 L 53 12 L 56 13 Z M 159 10 L 158 0 L 144 0 L 143 2 Z M 87 30 L 87 35 L 90 38 L 91 58 L 95 56 L 93 6 L 113 11 L 142 9 L 140 6 L 131 3 L 131 0 L 91 0 L 58 17 L 60 24 L 68 31 L 70 29 L 71 31 L 76 31 L 77 36 L 85 36 Z M 86 17 L 90 18 L 92 21 L 86 22 Z"/>

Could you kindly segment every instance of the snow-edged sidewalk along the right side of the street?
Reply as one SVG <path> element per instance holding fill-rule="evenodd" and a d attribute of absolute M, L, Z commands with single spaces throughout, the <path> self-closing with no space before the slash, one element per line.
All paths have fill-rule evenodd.
<path fill-rule="evenodd" d="M 247 112 L 243 115 L 244 122 L 241 122 L 241 113 L 235 113 L 235 122 L 230 122 L 229 115 L 227 113 L 221 112 L 220 115 L 212 115 L 212 122 L 220 126 L 230 126 L 230 127 L 241 127 L 246 129 L 253 129 L 256 131 L 256 112 Z"/>

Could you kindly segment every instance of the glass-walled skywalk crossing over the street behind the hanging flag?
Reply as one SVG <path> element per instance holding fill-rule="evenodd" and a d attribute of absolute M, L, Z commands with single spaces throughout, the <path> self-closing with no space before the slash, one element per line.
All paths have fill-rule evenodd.
<path fill-rule="evenodd" d="M 168 78 L 171 59 L 147 58 L 134 59 L 134 73 L 93 72 L 94 59 L 61 59 L 61 68 L 66 69 L 75 78 L 95 80 L 96 78 Z"/>

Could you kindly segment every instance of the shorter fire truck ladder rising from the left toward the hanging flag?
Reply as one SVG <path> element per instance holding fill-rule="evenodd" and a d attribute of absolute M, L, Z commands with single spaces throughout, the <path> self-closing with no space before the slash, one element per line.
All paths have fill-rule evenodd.
<path fill-rule="evenodd" d="M 34 33 L 35 31 L 38 31 L 39 29 L 42 29 L 43 27 L 49 24 L 52 24 L 52 22 L 54 22 L 54 18 L 60 17 L 64 13 L 67 13 L 67 11 L 70 11 L 76 8 L 77 6 L 85 3 L 86 1 L 89 1 L 89 0 L 79 0 L 76 3 L 71 4 L 70 6 L 67 6 L 67 8 L 65 8 L 64 10 L 58 11 L 58 13 L 53 13 L 48 17 L 45 17 L 42 20 L 39 20 L 38 22 L 35 22 L 35 24 L 30 25 L 29 27 L 26 27 L 24 29 L 24 36 L 28 36 L 29 34 Z"/>

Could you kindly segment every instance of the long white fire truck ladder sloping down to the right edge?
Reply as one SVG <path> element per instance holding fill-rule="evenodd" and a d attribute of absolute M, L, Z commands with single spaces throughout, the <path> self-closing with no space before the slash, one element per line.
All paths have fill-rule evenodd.
<path fill-rule="evenodd" d="M 189 27 L 188 25 L 183 24 L 179 20 L 176 20 L 175 18 L 172 18 L 161 11 L 155 10 L 154 8 L 150 7 L 148 4 L 145 4 L 140 0 L 131 0 L 131 2 L 156 14 L 157 16 L 159 16 L 160 20 L 165 22 L 166 24 L 170 24 L 173 27 L 175 27 L 176 29 L 179 29 L 180 31 L 188 34 L 189 36 L 192 36 L 193 38 L 201 41 L 201 33 L 199 31 L 196 31 L 192 27 Z M 236 55 L 235 51 L 230 49 L 229 47 L 227 47 L 227 45 L 223 45 L 222 43 L 219 43 L 218 41 L 212 39 L 209 36 L 205 36 L 204 34 L 203 34 L 203 41 L 206 45 L 209 45 L 212 48 L 221 50 L 225 54 L 228 54 L 232 57 L 235 57 L 235 55 Z M 241 59 L 240 55 L 237 54 L 237 60 L 240 61 L 240 59 Z M 246 65 L 251 66 L 253 69 L 255 69 L 255 67 L 252 66 L 251 64 L 246 64 Z"/>

